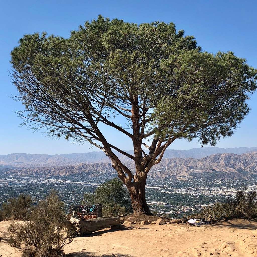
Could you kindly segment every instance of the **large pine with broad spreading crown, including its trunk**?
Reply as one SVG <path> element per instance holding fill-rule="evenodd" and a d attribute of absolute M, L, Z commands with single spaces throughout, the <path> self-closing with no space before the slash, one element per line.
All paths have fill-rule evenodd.
<path fill-rule="evenodd" d="M 181 138 L 215 145 L 231 136 L 256 89 L 257 71 L 245 59 L 202 52 L 173 23 L 137 25 L 99 16 L 68 39 L 24 35 L 11 57 L 17 100 L 26 107 L 17 112 L 23 124 L 103 150 L 127 186 L 135 214 L 150 214 L 146 177 L 167 147 Z M 108 142 L 104 126 L 129 137 L 134 154 Z"/>

